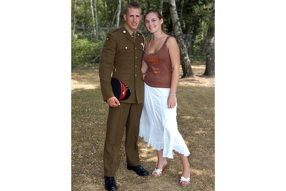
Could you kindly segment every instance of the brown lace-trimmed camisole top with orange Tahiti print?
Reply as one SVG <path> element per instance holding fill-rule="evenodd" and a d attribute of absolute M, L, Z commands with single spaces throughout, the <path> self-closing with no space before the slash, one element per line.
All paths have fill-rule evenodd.
<path fill-rule="evenodd" d="M 162 47 L 155 53 L 148 53 L 150 40 L 145 44 L 143 59 L 148 65 L 148 70 L 144 76 L 144 82 L 151 87 L 171 87 L 172 64 L 167 47 L 168 36 Z"/>

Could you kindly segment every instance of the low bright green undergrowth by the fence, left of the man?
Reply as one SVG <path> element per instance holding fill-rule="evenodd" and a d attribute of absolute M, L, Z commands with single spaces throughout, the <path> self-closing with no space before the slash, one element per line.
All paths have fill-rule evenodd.
<path fill-rule="evenodd" d="M 97 66 L 100 62 L 102 40 L 89 41 L 87 39 L 73 39 L 71 49 L 71 68 L 85 68 Z"/>

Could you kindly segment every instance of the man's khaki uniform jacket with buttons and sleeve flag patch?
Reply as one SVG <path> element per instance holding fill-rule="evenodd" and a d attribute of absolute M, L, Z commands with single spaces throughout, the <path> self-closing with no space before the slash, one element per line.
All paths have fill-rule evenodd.
<path fill-rule="evenodd" d="M 141 71 L 145 39 L 142 34 L 136 34 L 136 42 L 124 26 L 111 30 L 103 45 L 99 77 L 102 98 L 106 101 L 114 96 L 111 87 L 112 77 L 119 78 L 131 90 L 131 95 L 121 103 L 142 103 L 144 101 L 144 81 Z"/>

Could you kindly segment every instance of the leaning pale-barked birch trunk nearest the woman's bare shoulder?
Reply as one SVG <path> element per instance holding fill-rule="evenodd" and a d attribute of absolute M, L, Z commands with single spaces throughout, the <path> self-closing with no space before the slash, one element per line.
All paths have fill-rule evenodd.
<path fill-rule="evenodd" d="M 183 76 L 181 78 L 194 77 L 188 52 L 186 49 L 186 44 L 184 42 L 183 33 L 181 30 L 181 24 L 178 18 L 175 0 L 169 0 L 169 5 L 175 36 L 180 49 L 180 62 L 183 70 Z"/>

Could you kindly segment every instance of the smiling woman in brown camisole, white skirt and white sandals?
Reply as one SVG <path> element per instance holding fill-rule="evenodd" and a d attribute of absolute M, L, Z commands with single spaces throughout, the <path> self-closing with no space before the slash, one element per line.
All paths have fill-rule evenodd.
<path fill-rule="evenodd" d="M 139 136 L 157 151 L 158 163 L 152 172 L 160 176 L 167 167 L 167 158 L 175 150 L 183 163 L 182 186 L 190 182 L 190 154 L 177 125 L 176 89 L 179 79 L 180 52 L 174 37 L 162 30 L 163 18 L 157 10 L 149 10 L 144 17 L 153 38 L 146 41 L 142 59 L 144 77 L 144 107 L 140 118 Z"/>

